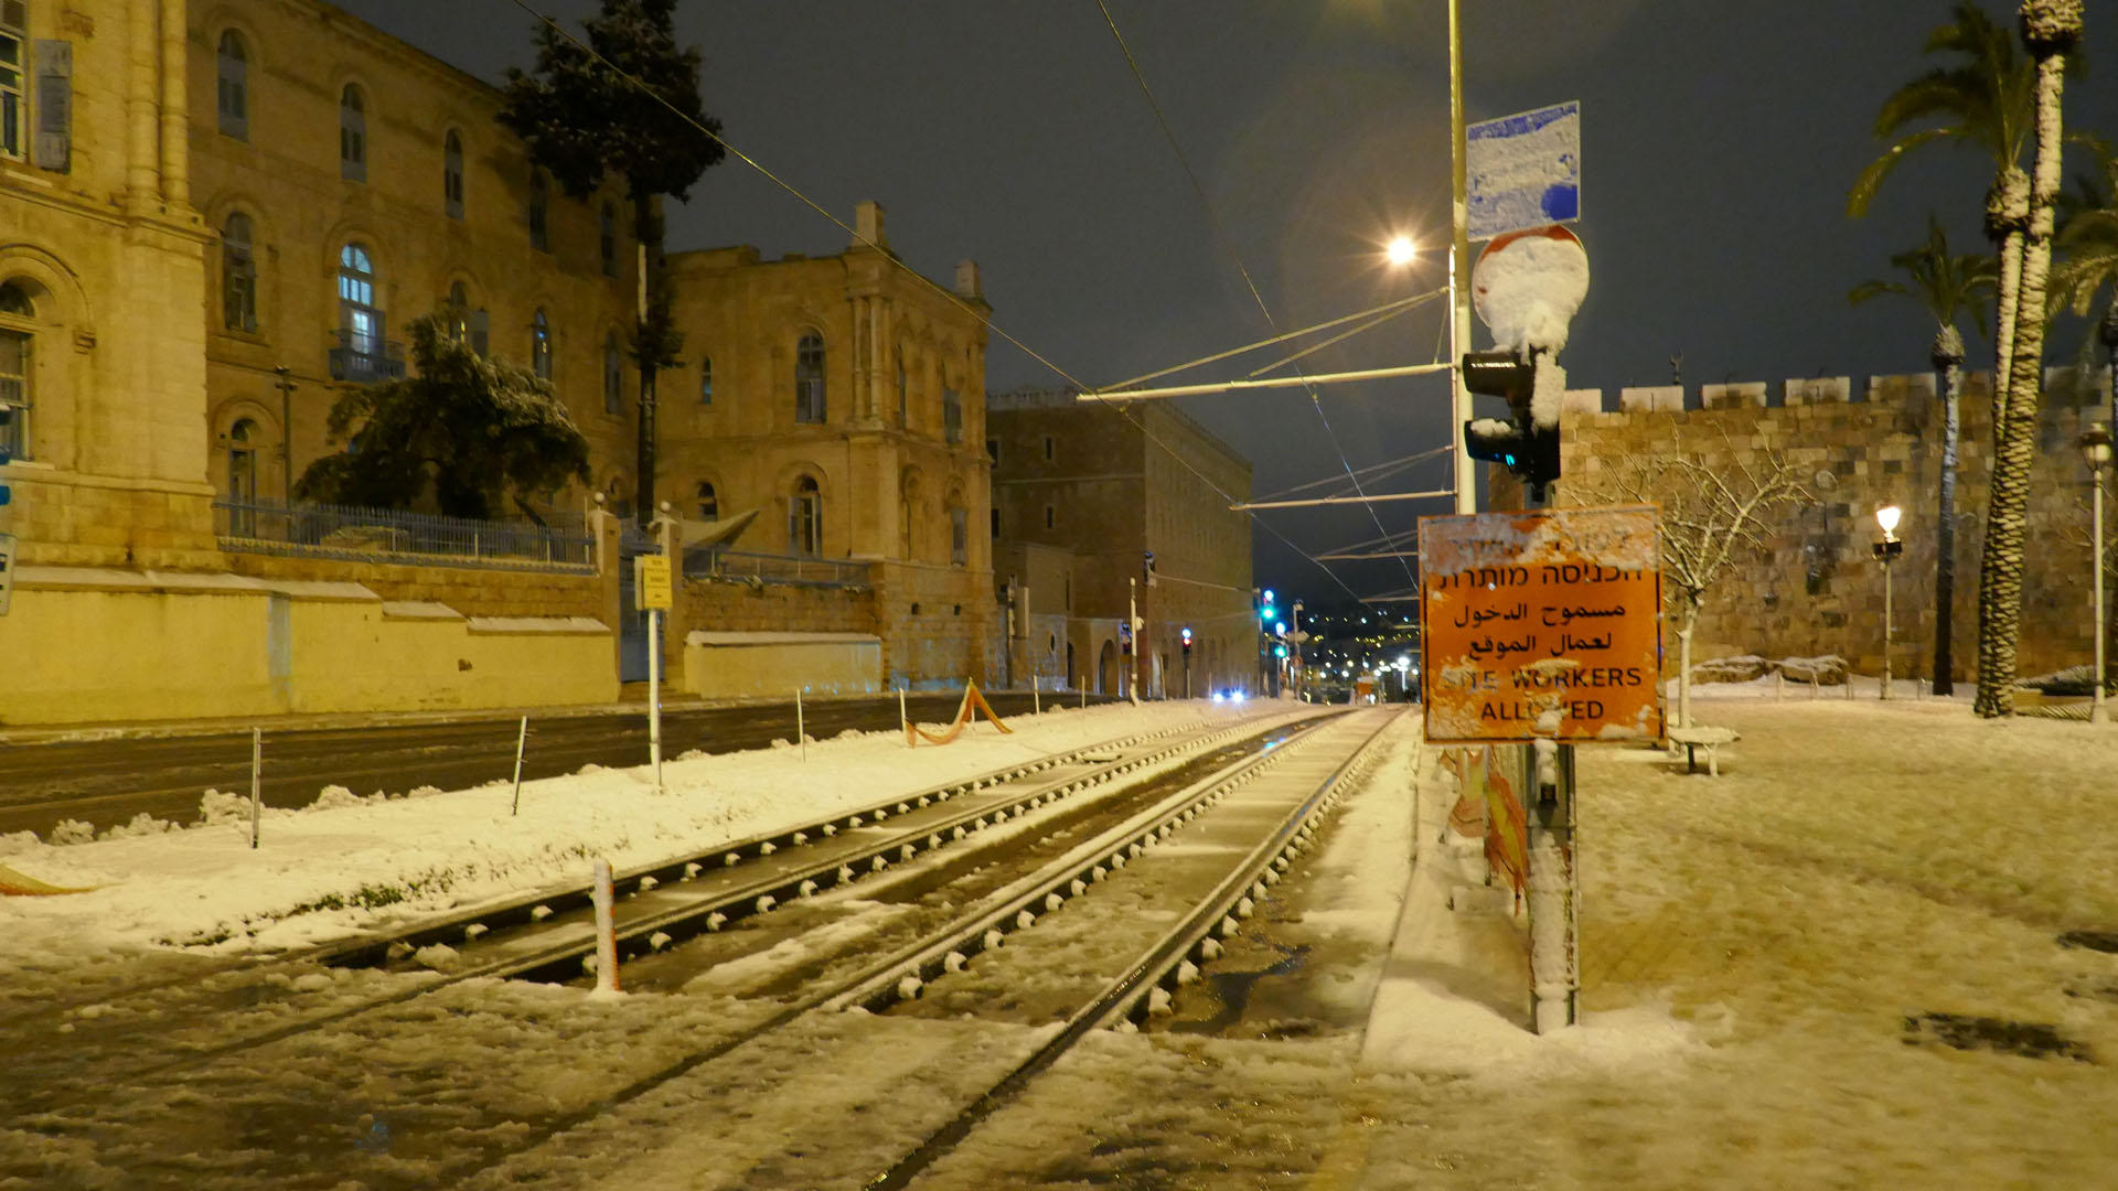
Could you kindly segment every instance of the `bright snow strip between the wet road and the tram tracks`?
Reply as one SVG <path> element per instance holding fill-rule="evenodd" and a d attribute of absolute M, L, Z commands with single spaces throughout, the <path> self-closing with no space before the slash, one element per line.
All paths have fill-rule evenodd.
<path fill-rule="evenodd" d="M 205 799 L 216 822 L 186 831 L 78 846 L 8 837 L 0 865 L 93 892 L 0 896 L 0 937 L 17 954 L 40 941 L 61 954 L 201 941 L 216 941 L 212 947 L 222 954 L 299 947 L 517 890 L 582 882 L 597 856 L 629 869 L 1029 757 L 1281 708 L 1171 701 L 1048 710 L 1012 716 L 1010 735 L 979 723 L 945 748 L 909 750 L 896 731 L 845 733 L 809 744 L 807 761 L 784 742 L 771 750 L 665 761 L 665 795 L 654 793 L 646 765 L 589 765 L 568 778 L 523 782 L 519 814 L 510 814 L 508 782 L 453 793 L 426 788 L 388 801 L 320 790 L 320 807 L 265 810 L 256 850 L 248 799 Z"/>

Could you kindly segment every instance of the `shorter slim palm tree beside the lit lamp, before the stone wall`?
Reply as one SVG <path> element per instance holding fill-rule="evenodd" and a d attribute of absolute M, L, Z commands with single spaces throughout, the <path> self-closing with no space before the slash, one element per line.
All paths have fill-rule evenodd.
<path fill-rule="evenodd" d="M 1982 328 L 1976 314 L 1993 295 L 1995 269 L 1991 256 L 1951 252 L 1949 233 L 1942 231 L 1942 220 L 1932 212 L 1927 212 L 1927 242 L 1898 252 L 1889 263 L 1902 269 L 1910 284 L 1862 282 L 1853 286 L 1847 301 L 1860 305 L 1883 295 L 1910 297 L 1938 324 L 1929 352 L 1934 367 L 1942 373 L 1942 492 L 1934 540 L 1938 551 L 1934 564 L 1934 693 L 1949 695 L 1955 691 L 1951 640 L 1957 600 L 1957 396 L 1963 386 L 1963 335 L 1957 333 L 1957 320 L 1970 314 L 1972 324 Z"/>

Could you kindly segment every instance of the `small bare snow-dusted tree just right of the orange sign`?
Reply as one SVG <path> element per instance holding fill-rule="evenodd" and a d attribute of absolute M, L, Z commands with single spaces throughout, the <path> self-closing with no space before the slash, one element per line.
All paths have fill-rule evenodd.
<path fill-rule="evenodd" d="M 1777 511 L 1809 500 L 1798 468 L 1777 451 L 1739 449 L 1726 430 L 1722 443 L 1722 458 L 1707 460 L 1671 430 L 1669 454 L 1627 456 L 1597 479 L 1567 485 L 1569 502 L 1663 509 L 1663 598 L 1677 617 L 1677 727 L 1692 723 L 1692 629 L 1707 591 L 1745 555 L 1766 553 Z"/>

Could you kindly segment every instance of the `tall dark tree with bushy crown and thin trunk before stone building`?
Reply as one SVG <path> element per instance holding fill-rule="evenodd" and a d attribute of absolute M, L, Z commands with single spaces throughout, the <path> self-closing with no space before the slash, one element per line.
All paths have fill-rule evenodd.
<path fill-rule="evenodd" d="M 640 523 L 654 515 L 654 373 L 674 367 L 684 337 L 669 316 L 661 197 L 684 201 L 724 157 L 720 121 L 699 100 L 699 49 L 678 49 L 676 0 L 602 0 L 582 21 L 587 45 L 559 25 L 536 28 L 536 72 L 508 70 L 500 123 L 530 146 L 568 195 L 625 180 L 640 237 L 646 301 L 633 331 L 640 365 Z"/>

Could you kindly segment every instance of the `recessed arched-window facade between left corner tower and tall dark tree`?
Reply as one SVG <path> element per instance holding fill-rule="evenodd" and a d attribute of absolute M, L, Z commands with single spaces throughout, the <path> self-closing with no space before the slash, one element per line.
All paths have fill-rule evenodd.
<path fill-rule="evenodd" d="M 284 498 L 343 449 L 324 439 L 343 384 L 402 377 L 405 324 L 451 307 L 553 381 L 597 490 L 629 498 L 621 189 L 568 199 L 500 129 L 496 87 L 316 0 L 193 4 L 186 51 L 214 487 Z"/>

